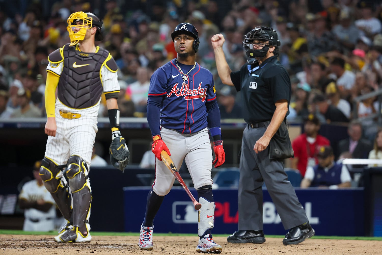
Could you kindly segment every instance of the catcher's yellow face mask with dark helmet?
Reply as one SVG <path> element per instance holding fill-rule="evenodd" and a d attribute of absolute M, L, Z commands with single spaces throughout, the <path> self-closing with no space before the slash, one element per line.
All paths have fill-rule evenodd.
<path fill-rule="evenodd" d="M 97 16 L 95 16 L 94 13 L 84 13 L 83 11 L 77 11 L 69 16 L 67 22 L 68 26 L 66 29 L 69 32 L 70 46 L 76 45 L 79 41 L 82 41 L 85 38 L 86 29 L 93 27 L 97 28 L 94 40 L 102 41 L 104 39 L 104 36 L 101 33 L 102 24 L 104 22 L 102 19 L 99 19 Z M 74 32 L 74 28 L 79 28 L 79 31 Z"/>

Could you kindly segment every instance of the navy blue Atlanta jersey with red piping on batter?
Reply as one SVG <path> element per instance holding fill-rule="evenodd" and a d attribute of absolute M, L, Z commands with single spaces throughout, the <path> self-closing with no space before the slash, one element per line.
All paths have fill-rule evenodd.
<path fill-rule="evenodd" d="M 178 62 L 188 73 L 193 65 Z M 149 97 L 163 97 L 160 125 L 180 133 L 195 133 L 207 127 L 206 102 L 216 100 L 214 78 L 206 68 L 196 63 L 183 81 L 175 58 L 158 68 L 150 79 Z"/>

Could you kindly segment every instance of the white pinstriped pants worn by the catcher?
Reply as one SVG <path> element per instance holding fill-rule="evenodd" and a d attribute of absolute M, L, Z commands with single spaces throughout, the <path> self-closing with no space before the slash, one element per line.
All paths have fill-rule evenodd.
<path fill-rule="evenodd" d="M 64 165 L 70 156 L 78 155 L 90 167 L 95 134 L 98 131 L 97 117 L 65 119 L 56 108 L 56 124 L 56 136 L 48 137 L 45 157 L 58 165 Z"/>

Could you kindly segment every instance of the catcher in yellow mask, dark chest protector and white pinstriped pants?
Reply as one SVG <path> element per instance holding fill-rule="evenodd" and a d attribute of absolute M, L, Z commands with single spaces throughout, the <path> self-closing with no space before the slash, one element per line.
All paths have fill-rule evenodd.
<path fill-rule="evenodd" d="M 57 242 L 91 240 L 89 167 L 102 93 L 106 97 L 112 143 L 116 140 L 118 143 L 125 141 L 118 130 L 117 98 L 120 87 L 117 65 L 107 50 L 94 44 L 94 41 L 103 39 L 102 23 L 94 13 L 78 11 L 71 14 L 67 28 L 71 43 L 55 50 L 48 57 L 50 63 L 45 88 L 48 119 L 45 133 L 49 137 L 40 176 L 68 221 L 55 237 Z M 125 153 L 125 159 L 113 161 L 113 155 L 111 157 L 117 168 L 128 162 L 125 143 L 120 151 Z M 63 176 L 64 167 L 68 183 Z"/>

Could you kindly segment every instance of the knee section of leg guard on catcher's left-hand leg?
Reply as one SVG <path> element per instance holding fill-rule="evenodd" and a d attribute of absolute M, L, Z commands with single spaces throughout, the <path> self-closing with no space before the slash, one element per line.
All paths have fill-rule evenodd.
<path fill-rule="evenodd" d="M 58 165 L 51 159 L 43 158 L 40 167 L 40 177 L 44 181 L 45 188 L 50 193 L 57 192 L 58 188 L 64 187 L 61 182 L 62 171 L 58 169 Z M 64 178 L 65 179 L 65 178 Z"/>

